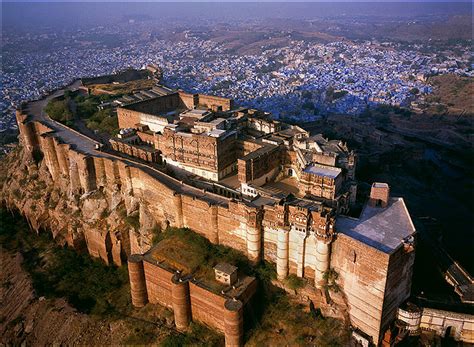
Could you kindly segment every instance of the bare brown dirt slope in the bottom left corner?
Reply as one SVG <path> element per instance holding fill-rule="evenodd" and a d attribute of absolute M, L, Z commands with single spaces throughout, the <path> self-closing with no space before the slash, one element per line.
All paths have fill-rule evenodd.
<path fill-rule="evenodd" d="M 155 342 L 169 333 L 160 325 L 172 324 L 171 315 L 167 318 L 169 322 L 165 318 L 155 322 L 140 318 L 97 319 L 77 312 L 64 299 L 37 297 L 29 275 L 21 267 L 22 261 L 20 253 L 0 249 L 0 344 L 133 344 L 133 335 L 141 332 L 137 326 L 144 325 Z M 154 316 L 146 313 L 147 319 Z M 144 314 L 138 312 L 138 316 Z"/>

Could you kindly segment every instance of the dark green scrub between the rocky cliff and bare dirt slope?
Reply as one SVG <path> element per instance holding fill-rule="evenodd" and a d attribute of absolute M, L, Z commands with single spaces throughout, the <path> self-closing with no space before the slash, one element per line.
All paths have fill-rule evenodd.
<path fill-rule="evenodd" d="M 38 296 L 64 297 L 77 310 L 100 317 L 131 311 L 127 267 L 108 266 L 88 254 L 59 247 L 48 233 L 36 235 L 25 220 L 0 210 L 0 244 L 21 252 Z"/>

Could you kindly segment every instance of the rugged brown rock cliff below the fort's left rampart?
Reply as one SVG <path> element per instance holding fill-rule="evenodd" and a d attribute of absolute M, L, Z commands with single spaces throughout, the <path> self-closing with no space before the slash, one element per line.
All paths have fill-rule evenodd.
<path fill-rule="evenodd" d="M 160 228 L 147 203 L 119 184 L 74 189 L 68 177 L 53 180 L 47 159 L 40 153 L 33 158 L 21 143 L 2 158 L 0 182 L 2 205 L 18 210 L 34 230 L 50 230 L 59 243 L 107 263 L 120 265 L 126 254 L 148 250 Z"/>

